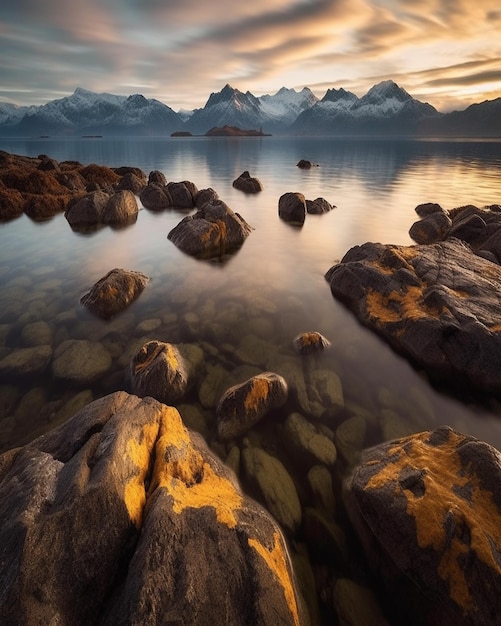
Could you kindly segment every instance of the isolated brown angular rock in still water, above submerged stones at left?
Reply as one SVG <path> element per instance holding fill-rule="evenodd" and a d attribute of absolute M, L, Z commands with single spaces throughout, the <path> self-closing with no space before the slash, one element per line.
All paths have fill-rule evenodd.
<path fill-rule="evenodd" d="M 80 302 L 94 315 L 109 319 L 138 298 L 149 280 L 141 272 L 115 268 L 100 278 Z"/>

